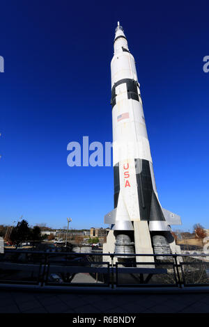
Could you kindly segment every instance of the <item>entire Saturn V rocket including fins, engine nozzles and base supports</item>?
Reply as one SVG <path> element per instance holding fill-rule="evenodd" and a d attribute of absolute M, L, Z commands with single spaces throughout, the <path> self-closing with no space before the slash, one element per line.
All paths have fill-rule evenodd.
<path fill-rule="evenodd" d="M 111 60 L 111 106 L 114 209 L 104 216 L 110 230 L 103 252 L 118 257 L 179 253 L 170 225 L 180 225 L 180 216 L 162 208 L 158 199 L 137 70 L 119 22 Z M 153 257 L 136 260 L 150 262 Z"/>

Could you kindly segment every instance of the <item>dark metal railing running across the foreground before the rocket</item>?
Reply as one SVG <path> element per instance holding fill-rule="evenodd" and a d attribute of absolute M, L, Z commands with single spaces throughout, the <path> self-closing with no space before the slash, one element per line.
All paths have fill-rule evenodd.
<path fill-rule="evenodd" d="M 123 257 L 125 259 L 121 262 Z M 137 260 L 133 260 L 132 255 L 116 253 L 6 250 L 0 255 L 0 286 L 112 289 L 209 286 L 209 255 L 137 254 L 135 257 Z M 150 260 L 145 261 L 144 257 L 146 260 L 150 257 Z M 162 257 L 163 260 L 159 260 Z"/>

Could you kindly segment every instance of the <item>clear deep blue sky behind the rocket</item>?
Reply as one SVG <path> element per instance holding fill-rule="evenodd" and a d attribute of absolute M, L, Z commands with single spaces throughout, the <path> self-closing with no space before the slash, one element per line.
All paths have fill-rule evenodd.
<path fill-rule="evenodd" d="M 70 141 L 112 140 L 120 20 L 137 63 L 162 206 L 209 228 L 208 1 L 1 1 L 0 223 L 105 227 L 112 167 L 67 165 Z M 174 229 L 176 229 L 175 227 Z"/>

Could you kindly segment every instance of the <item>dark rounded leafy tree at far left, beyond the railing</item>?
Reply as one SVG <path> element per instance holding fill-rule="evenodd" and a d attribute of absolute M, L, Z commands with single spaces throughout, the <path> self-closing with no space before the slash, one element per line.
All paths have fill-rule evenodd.
<path fill-rule="evenodd" d="M 26 220 L 19 221 L 10 234 L 10 241 L 15 244 L 16 248 L 30 237 L 29 223 Z"/>

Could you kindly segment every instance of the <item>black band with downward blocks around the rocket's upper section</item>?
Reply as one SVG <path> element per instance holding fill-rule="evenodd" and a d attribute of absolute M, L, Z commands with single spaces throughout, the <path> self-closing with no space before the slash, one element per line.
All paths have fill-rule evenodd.
<path fill-rule="evenodd" d="M 114 86 L 111 88 L 111 107 L 112 109 L 116 105 L 116 87 L 120 84 L 126 83 L 127 86 L 127 99 L 134 99 L 139 102 L 139 93 L 137 90 L 137 86 L 139 87 L 139 83 L 134 81 L 134 79 L 121 79 L 114 83 Z"/>

